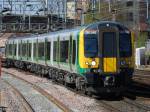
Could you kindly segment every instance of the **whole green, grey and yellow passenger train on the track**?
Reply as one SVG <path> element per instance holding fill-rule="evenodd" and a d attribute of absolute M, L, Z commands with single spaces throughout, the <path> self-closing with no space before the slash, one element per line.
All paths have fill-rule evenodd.
<path fill-rule="evenodd" d="M 122 93 L 134 72 L 134 32 L 112 21 L 10 38 L 6 65 L 86 94 Z"/>

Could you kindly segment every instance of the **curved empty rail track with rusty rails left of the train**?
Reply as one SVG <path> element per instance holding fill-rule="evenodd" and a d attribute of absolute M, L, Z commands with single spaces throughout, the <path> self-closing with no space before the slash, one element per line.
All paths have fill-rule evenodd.
<path fill-rule="evenodd" d="M 14 78 L 16 78 L 16 79 L 19 79 L 19 80 L 21 80 L 21 81 L 23 81 L 23 82 L 25 82 L 25 83 L 27 83 L 27 84 L 29 84 L 29 85 L 31 85 L 36 91 L 38 91 L 40 94 L 42 94 L 44 97 L 46 97 L 50 102 L 52 102 L 52 103 L 54 103 L 55 105 L 57 105 L 59 108 L 60 108 L 60 110 L 62 110 L 63 112 L 71 112 L 72 110 L 70 110 L 67 106 L 65 106 L 62 102 L 60 102 L 60 101 L 58 101 L 57 99 L 55 99 L 53 96 L 51 96 L 48 92 L 46 92 L 45 90 L 43 90 L 41 87 L 39 87 L 39 86 L 36 86 L 35 84 L 33 84 L 33 83 L 31 83 L 31 82 L 29 82 L 29 81 L 27 81 L 27 80 L 25 80 L 25 79 L 23 79 L 23 78 L 21 78 L 21 77 L 17 77 L 16 75 L 14 75 L 13 73 L 9 73 L 9 72 L 4 72 L 3 71 L 3 73 L 6 73 L 6 74 L 9 74 L 9 75 L 11 75 L 11 76 L 13 76 Z M 7 82 L 7 81 L 5 81 L 6 83 L 8 83 L 9 84 L 9 82 Z M 9 85 L 11 85 L 11 84 L 9 84 Z M 11 85 L 12 86 L 12 85 Z M 15 89 L 15 87 L 14 86 L 12 86 L 14 89 Z M 17 91 L 17 90 L 16 90 Z M 18 91 L 19 92 L 19 91 Z M 22 96 L 23 97 L 23 96 Z M 26 101 L 27 102 L 27 101 Z M 28 103 L 28 102 L 27 102 Z M 29 104 L 29 103 L 28 103 Z M 31 107 L 31 106 L 30 106 Z M 32 108 L 32 107 L 31 107 Z M 33 110 L 33 109 L 32 109 Z M 33 110 L 33 112 L 34 112 L 35 110 Z"/>

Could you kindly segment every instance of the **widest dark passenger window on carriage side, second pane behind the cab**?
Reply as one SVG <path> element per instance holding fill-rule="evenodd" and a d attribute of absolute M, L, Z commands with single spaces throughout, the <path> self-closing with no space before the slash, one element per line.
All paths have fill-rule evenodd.
<path fill-rule="evenodd" d="M 68 63 L 69 40 L 60 41 L 60 62 Z"/>

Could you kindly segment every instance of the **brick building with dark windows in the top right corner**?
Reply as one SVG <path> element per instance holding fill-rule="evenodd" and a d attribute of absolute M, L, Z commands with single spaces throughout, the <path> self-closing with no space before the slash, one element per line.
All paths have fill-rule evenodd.
<path fill-rule="evenodd" d="M 147 8 L 150 9 L 147 7 L 147 0 L 123 0 L 120 2 L 124 5 L 121 5 L 122 9 L 118 13 L 119 17 L 122 16 L 122 20 L 118 21 L 123 22 L 132 30 L 147 31 L 149 19 Z"/>

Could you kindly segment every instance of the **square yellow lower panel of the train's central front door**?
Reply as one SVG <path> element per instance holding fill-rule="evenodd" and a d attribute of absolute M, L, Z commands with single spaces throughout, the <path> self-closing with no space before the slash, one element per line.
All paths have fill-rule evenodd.
<path fill-rule="evenodd" d="M 104 58 L 104 72 L 114 73 L 117 72 L 116 58 Z"/>

